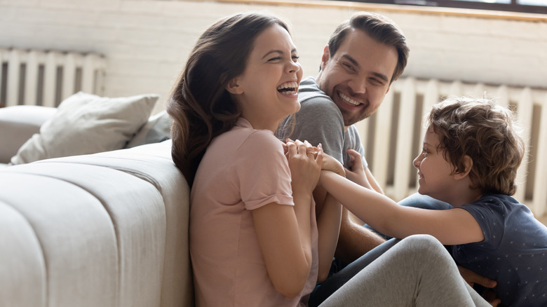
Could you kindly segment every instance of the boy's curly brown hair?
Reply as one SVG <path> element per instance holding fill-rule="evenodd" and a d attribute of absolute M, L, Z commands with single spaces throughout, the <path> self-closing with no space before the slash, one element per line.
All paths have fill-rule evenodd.
<path fill-rule="evenodd" d="M 444 150 L 454 172 L 465 172 L 464 156 L 471 157 L 473 188 L 483 193 L 515 193 L 525 144 L 511 110 L 488 99 L 449 97 L 433 105 L 426 125 L 439 135 L 438 150 Z"/>

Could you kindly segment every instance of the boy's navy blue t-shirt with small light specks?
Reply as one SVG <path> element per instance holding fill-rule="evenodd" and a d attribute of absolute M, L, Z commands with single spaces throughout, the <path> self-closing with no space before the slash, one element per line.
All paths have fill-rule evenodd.
<path fill-rule="evenodd" d="M 485 194 L 463 205 L 485 240 L 454 245 L 457 264 L 497 280 L 502 306 L 547 306 L 547 227 L 515 198 Z"/>

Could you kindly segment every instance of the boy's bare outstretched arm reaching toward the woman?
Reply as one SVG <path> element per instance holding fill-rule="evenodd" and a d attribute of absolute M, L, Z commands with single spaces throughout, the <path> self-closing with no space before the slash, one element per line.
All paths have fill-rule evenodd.
<path fill-rule="evenodd" d="M 424 233 L 435 236 L 445 245 L 484 240 L 480 226 L 466 210 L 403 207 L 376 191 L 325 170 L 321 171 L 319 183 L 349 211 L 388 236 L 405 238 Z"/>

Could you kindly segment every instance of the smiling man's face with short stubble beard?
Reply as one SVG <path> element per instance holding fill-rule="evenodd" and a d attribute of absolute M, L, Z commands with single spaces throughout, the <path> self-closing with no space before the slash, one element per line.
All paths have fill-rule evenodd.
<path fill-rule="evenodd" d="M 346 34 L 335 55 L 325 47 L 317 83 L 342 111 L 346 127 L 378 109 L 389 91 L 397 60 L 395 47 L 358 29 Z"/>

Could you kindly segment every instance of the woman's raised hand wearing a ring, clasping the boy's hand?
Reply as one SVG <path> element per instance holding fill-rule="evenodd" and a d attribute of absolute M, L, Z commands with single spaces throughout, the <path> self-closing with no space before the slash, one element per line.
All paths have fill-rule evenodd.
<path fill-rule="evenodd" d="M 300 189 L 311 193 L 315 189 L 323 164 L 323 148 L 309 142 L 287 139 L 287 160 L 292 177 L 292 191 Z"/>

